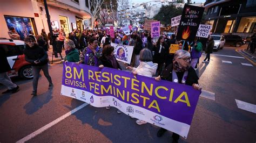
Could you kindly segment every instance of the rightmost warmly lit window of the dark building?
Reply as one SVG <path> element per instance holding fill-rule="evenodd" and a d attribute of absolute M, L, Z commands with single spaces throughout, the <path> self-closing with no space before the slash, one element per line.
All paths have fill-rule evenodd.
<path fill-rule="evenodd" d="M 237 32 L 256 33 L 256 17 L 242 17 Z"/>

